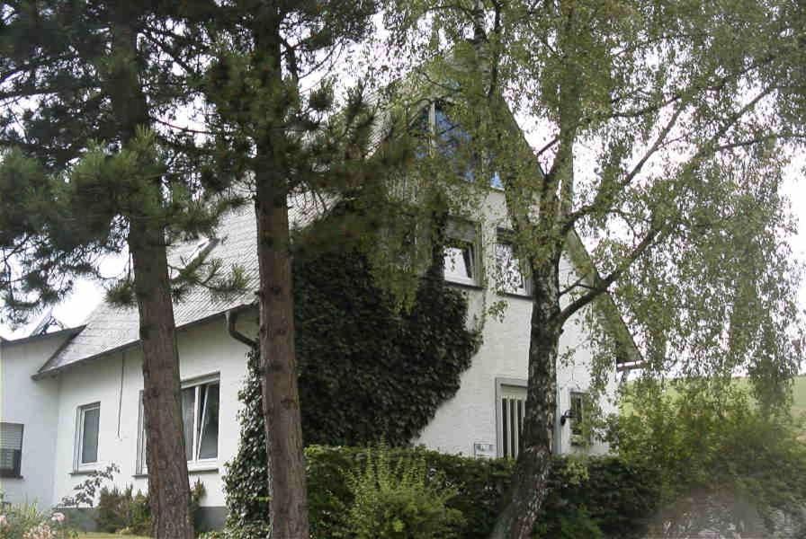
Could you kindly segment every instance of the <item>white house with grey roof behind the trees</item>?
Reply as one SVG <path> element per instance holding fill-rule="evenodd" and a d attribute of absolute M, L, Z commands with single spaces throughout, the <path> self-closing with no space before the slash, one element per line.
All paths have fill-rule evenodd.
<path fill-rule="evenodd" d="M 470 317 L 498 299 L 506 299 L 508 306 L 503 318 L 487 318 L 483 344 L 461 376 L 460 390 L 413 442 L 452 454 L 514 456 L 524 413 L 532 305 L 523 279 L 516 278 L 502 296 L 480 286 L 482 272 L 497 265 L 519 271 L 506 237 L 498 237 L 506 228 L 503 193 L 490 189 L 484 208 L 482 223 L 451 227 L 463 241 L 445 249 L 445 278 L 466 291 Z M 298 225 L 311 218 L 302 207 L 292 213 Z M 251 208 L 228 216 L 216 236 L 208 245 L 183 245 L 172 256 L 187 261 L 209 251 L 210 257 L 237 263 L 256 279 Z M 587 259 L 581 243 L 572 242 L 569 254 L 574 256 L 565 261 L 564 276 L 570 282 Z M 237 450 L 237 391 L 246 375 L 247 346 L 234 335 L 255 335 L 253 301 L 251 293 L 221 298 L 197 289 L 175 304 L 188 464 L 192 481 L 198 478 L 206 487 L 201 506 L 210 525 L 224 517 L 221 475 Z M 605 304 L 601 315 L 622 344 L 620 358 L 613 358 L 612 397 L 617 370 L 638 356 L 614 305 Z M 562 334 L 561 349 L 570 350 L 573 361 L 558 366 L 558 417 L 578 407 L 590 381 L 587 335 L 574 320 Z M 0 490 L 6 501 L 55 505 L 87 473 L 111 463 L 121 469 L 116 477 L 121 486 L 147 489 L 136 309 L 103 304 L 84 326 L 2 340 L 0 378 Z M 613 410 L 614 403 L 602 405 Z M 578 450 L 572 444 L 574 423 L 560 425 L 558 420 L 556 449 L 561 453 Z M 606 447 L 595 443 L 591 450 Z"/>

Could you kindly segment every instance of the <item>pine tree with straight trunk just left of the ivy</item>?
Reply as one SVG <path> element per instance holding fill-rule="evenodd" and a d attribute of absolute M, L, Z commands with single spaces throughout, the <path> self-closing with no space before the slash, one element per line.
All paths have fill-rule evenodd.
<path fill-rule="evenodd" d="M 275 539 L 309 536 L 294 349 L 289 197 L 368 176 L 373 114 L 361 85 L 341 107 L 336 57 L 370 30 L 373 2 L 222 3 L 205 80 L 221 170 L 248 179 L 257 219 L 259 348 Z M 326 75 L 320 83 L 310 75 Z M 307 91 L 308 85 L 313 90 Z"/>

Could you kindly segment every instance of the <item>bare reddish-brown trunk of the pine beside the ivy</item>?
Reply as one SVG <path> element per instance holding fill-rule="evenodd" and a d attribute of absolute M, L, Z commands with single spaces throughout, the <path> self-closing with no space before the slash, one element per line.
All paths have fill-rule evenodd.
<path fill-rule="evenodd" d="M 308 496 L 294 350 L 287 189 L 258 172 L 255 214 L 260 265 L 260 357 L 273 539 L 307 539 Z"/>

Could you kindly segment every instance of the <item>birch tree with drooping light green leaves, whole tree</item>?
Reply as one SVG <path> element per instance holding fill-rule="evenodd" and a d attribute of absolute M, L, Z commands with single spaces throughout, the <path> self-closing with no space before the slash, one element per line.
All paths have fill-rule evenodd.
<path fill-rule="evenodd" d="M 464 155 L 487 155 L 499 172 L 532 279 L 524 447 L 493 537 L 532 533 L 553 446 L 560 333 L 605 293 L 622 307 L 647 376 L 718 392 L 748 372 L 771 405 L 786 393 L 799 328 L 781 184 L 806 136 L 801 4 L 390 4 L 392 46 L 415 63 L 435 58 L 431 80 L 452 94 L 470 134 Z M 513 112 L 541 126 L 540 144 L 524 143 Z M 486 189 L 488 176 L 475 183 Z M 598 271 L 565 282 L 560 261 L 574 234 Z M 601 378 L 617 343 L 586 318 Z"/>

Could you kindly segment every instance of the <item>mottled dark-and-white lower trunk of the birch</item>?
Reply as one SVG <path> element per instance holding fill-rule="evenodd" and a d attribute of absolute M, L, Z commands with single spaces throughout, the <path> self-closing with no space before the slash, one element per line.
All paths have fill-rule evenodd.
<path fill-rule="evenodd" d="M 507 504 L 490 539 L 529 539 L 546 498 L 554 418 L 557 410 L 557 354 L 562 328 L 559 264 L 533 268 L 534 301 L 529 340 L 523 448 L 518 454 Z"/>

